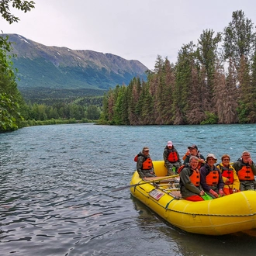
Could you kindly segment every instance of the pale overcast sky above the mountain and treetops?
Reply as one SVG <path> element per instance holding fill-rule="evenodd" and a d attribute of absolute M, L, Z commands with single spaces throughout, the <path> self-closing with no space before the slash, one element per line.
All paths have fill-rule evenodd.
<path fill-rule="evenodd" d="M 33 1 L 31 12 L 10 8 L 20 21 L 0 17 L 0 30 L 46 46 L 115 54 L 151 70 L 157 55 L 175 63 L 182 45 L 197 43 L 203 30 L 223 32 L 237 10 L 256 24 L 253 0 Z"/>

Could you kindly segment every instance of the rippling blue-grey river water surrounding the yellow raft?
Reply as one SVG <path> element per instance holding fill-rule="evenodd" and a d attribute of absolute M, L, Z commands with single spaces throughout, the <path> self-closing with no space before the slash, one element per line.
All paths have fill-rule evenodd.
<path fill-rule="evenodd" d="M 249 150 L 256 125 L 33 126 L 0 134 L 1 255 L 255 255 L 256 231 L 188 234 L 133 199 L 135 154 L 162 160 L 168 140 L 183 155 Z M 239 203 L 239 202 L 237 202 Z"/>

